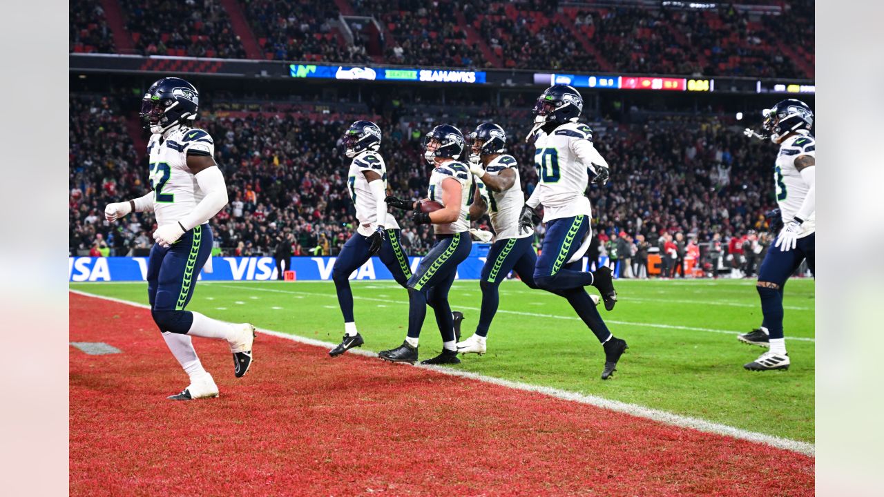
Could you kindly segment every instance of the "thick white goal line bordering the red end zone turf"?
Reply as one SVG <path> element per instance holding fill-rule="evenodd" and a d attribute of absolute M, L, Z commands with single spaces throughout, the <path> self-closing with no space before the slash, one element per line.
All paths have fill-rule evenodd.
<path fill-rule="evenodd" d="M 140 307 L 141 309 L 150 309 L 149 305 L 145 305 L 138 302 L 129 302 L 122 299 L 117 299 L 113 297 L 106 297 L 103 295 L 89 294 L 87 292 L 81 292 L 80 290 L 68 290 L 72 294 L 80 294 L 88 297 L 95 297 L 99 299 L 103 299 L 110 302 L 118 302 L 126 305 L 131 305 L 133 307 Z M 257 331 L 261 333 L 265 333 L 268 335 L 273 335 L 278 338 L 296 341 L 298 343 L 303 343 L 306 345 L 313 345 L 316 347 L 321 347 L 325 349 L 333 348 L 337 344 L 331 343 L 323 340 L 316 340 L 306 337 L 301 337 L 298 335 L 288 334 L 288 333 L 280 333 L 272 330 L 266 330 L 263 328 L 257 328 Z M 371 352 L 369 350 L 362 350 L 361 348 L 352 348 L 347 351 L 349 354 L 355 354 L 358 356 L 367 356 L 367 357 L 377 357 L 377 353 Z M 766 433 L 758 433 L 758 432 L 750 432 L 748 430 L 742 430 L 740 428 L 735 428 L 734 426 L 728 426 L 728 424 L 720 424 L 713 423 L 711 421 L 706 421 L 705 419 L 700 419 L 698 417 L 688 417 L 682 416 L 679 414 L 673 414 L 671 412 L 667 412 L 659 409 L 651 409 L 646 408 L 644 406 L 640 406 L 637 404 L 630 404 L 627 402 L 621 401 L 611 401 L 608 399 L 604 399 L 602 397 L 597 397 L 595 395 L 587 395 L 587 394 L 578 394 L 576 392 L 568 392 L 567 390 L 560 390 L 559 388 L 552 388 L 550 386 L 537 386 L 530 385 L 527 383 L 520 383 L 516 381 L 509 381 L 507 379 L 501 378 L 493 378 L 490 376 L 484 376 L 481 374 L 468 372 L 468 371 L 457 371 L 448 368 L 443 368 L 441 366 L 430 366 L 423 364 L 415 364 L 415 368 L 423 368 L 426 370 L 436 371 L 441 374 L 446 374 L 448 376 L 456 376 L 460 378 L 469 378 L 476 381 L 482 381 L 484 383 L 490 383 L 492 385 L 498 386 L 506 386 L 507 388 L 514 388 L 516 390 L 522 390 L 524 392 L 533 392 L 537 394 L 544 394 L 550 397 L 554 397 L 557 399 L 561 399 L 564 401 L 574 401 L 580 402 L 582 404 L 587 404 L 591 406 L 595 406 L 601 409 L 610 409 L 617 412 L 622 412 L 625 414 L 629 414 L 630 416 L 635 417 L 644 417 L 645 419 L 650 419 L 652 421 L 656 421 L 662 424 L 669 424 L 672 426 L 678 426 L 680 428 L 690 428 L 693 430 L 697 430 L 698 432 L 707 432 L 713 433 L 716 435 L 724 435 L 727 437 L 732 437 L 740 440 L 749 440 L 751 442 L 764 444 L 770 447 L 781 448 L 784 450 L 790 450 L 792 452 L 797 452 L 799 454 L 809 455 L 811 457 L 815 457 L 814 451 L 815 447 L 811 443 L 802 442 L 798 440 L 790 440 L 782 437 L 776 437 L 773 435 L 767 435 Z"/>

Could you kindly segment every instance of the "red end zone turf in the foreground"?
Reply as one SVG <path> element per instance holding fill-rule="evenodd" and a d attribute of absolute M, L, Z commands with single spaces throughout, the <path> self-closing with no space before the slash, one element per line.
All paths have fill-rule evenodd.
<path fill-rule="evenodd" d="M 221 396 L 187 376 L 149 310 L 70 294 L 72 495 L 812 495 L 813 459 L 542 394 L 259 334 Z M 258 324 L 260 325 L 260 323 Z"/>

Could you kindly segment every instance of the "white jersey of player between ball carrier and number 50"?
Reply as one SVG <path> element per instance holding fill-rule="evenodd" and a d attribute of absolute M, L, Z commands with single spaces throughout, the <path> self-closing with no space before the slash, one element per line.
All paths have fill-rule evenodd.
<path fill-rule="evenodd" d="M 505 169 L 515 172 L 515 182 L 503 192 L 492 192 L 485 187 L 482 178 L 485 176 L 497 176 Z M 522 182 L 519 180 L 519 166 L 513 156 L 502 154 L 494 157 L 491 163 L 485 167 L 485 176 L 476 181 L 479 195 L 488 206 L 488 217 L 492 220 L 492 228 L 498 240 L 507 238 L 526 238 L 534 234 L 531 229 L 528 233 L 519 233 L 519 215 L 522 214 L 522 206 L 525 205 L 525 195 L 522 194 Z"/>

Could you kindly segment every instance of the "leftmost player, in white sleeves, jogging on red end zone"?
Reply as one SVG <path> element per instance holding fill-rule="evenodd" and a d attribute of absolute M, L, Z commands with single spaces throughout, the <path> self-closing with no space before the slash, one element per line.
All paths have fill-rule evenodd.
<path fill-rule="evenodd" d="M 209 220 L 227 204 L 224 175 L 215 164 L 211 136 L 192 127 L 199 111 L 199 93 L 179 78 L 163 78 L 150 86 L 141 101 L 141 122 L 148 141 L 151 191 L 104 210 L 109 221 L 130 212 L 154 212 L 156 243 L 148 261 L 150 313 L 190 385 L 169 399 L 189 401 L 217 397 L 218 388 L 203 369 L 191 337 L 225 340 L 233 354 L 233 374 L 246 374 L 252 363 L 255 327 L 230 324 L 185 310 L 196 279 L 212 249 Z"/>

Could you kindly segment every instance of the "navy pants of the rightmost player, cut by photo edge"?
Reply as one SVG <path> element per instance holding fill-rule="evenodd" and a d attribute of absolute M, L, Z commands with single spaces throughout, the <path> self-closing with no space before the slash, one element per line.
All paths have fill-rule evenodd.
<path fill-rule="evenodd" d="M 764 314 L 763 325 L 770 333 L 770 338 L 781 339 L 782 333 L 782 288 L 786 280 L 798 269 L 801 262 L 807 259 L 807 266 L 816 274 L 816 250 L 814 241 L 816 233 L 799 238 L 796 248 L 782 251 L 773 244 L 767 248 L 765 260 L 758 268 L 758 296 L 761 297 L 761 312 Z"/>

